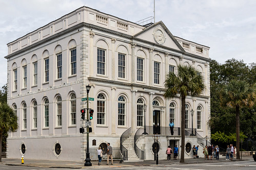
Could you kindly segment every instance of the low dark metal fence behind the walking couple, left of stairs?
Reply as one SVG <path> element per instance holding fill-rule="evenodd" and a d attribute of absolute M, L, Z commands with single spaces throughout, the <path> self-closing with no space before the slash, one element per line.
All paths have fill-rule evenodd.
<path fill-rule="evenodd" d="M 85 148 L 86 151 L 87 148 Z M 90 159 L 91 160 L 97 160 L 98 159 L 98 154 L 97 154 L 97 147 L 89 148 L 89 153 L 90 153 Z M 113 159 L 123 159 L 123 155 L 121 154 L 120 148 L 114 148 L 112 147 L 112 156 Z M 107 154 L 104 154 L 102 159 L 107 159 Z"/>

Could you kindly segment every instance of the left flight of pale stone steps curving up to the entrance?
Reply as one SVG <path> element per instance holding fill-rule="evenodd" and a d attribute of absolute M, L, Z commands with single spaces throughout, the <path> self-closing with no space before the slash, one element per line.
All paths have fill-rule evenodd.
<path fill-rule="evenodd" d="M 128 151 L 128 160 L 126 160 L 126 162 L 143 161 L 143 160 L 140 160 L 135 153 L 134 135 L 130 135 L 127 139 L 125 139 L 125 141 L 122 144 Z"/>

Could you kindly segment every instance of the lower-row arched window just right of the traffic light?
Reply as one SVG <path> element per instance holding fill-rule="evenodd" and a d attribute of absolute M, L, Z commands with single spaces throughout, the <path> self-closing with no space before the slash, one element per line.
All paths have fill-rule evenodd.
<path fill-rule="evenodd" d="M 105 125 L 106 99 L 103 94 L 97 96 L 97 124 Z"/>

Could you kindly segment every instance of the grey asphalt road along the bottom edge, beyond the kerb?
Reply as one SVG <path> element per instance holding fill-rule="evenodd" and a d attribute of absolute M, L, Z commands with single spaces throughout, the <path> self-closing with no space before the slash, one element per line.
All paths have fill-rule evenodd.
<path fill-rule="evenodd" d="M 0 169 L 2 170 L 68 170 L 70 168 L 42 168 L 42 167 L 24 167 L 24 166 L 10 166 L 6 164 L 0 164 Z M 92 168 L 80 168 L 80 169 L 92 169 Z M 195 164 L 172 164 L 172 165 L 150 165 L 150 166 L 129 166 L 129 167 L 97 167 L 94 169 L 127 169 L 127 170 L 175 170 L 175 169 L 184 169 L 184 170 L 211 170 L 211 169 L 225 169 L 225 170 L 234 170 L 234 169 L 245 169 L 245 170 L 255 170 L 256 162 L 253 160 L 247 161 L 233 161 L 233 162 L 219 162 L 219 163 L 195 163 Z"/>

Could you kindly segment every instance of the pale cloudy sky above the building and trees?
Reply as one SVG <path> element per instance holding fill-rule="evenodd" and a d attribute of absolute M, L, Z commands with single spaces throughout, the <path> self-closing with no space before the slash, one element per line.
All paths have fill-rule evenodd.
<path fill-rule="evenodd" d="M 0 87 L 7 43 L 82 6 L 132 22 L 153 16 L 153 0 L 0 0 Z M 255 0 L 155 0 L 155 21 L 174 36 L 210 47 L 210 58 L 256 62 Z"/>

